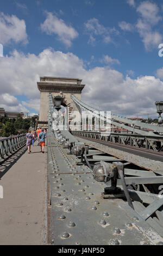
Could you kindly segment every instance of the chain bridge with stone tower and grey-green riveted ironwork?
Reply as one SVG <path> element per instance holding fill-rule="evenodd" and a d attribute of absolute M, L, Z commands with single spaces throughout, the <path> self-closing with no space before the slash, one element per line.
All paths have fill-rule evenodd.
<path fill-rule="evenodd" d="M 34 147 L 37 154 L 22 152 L 12 164 L 10 159 L 25 151 L 26 136 L 0 141 L 0 185 L 3 174 L 12 175 L 11 187 L 20 180 L 24 185 L 18 188 L 24 193 L 12 198 L 12 209 L 20 207 L 26 215 L 31 210 L 26 217 L 20 214 L 19 222 L 30 224 L 19 228 L 11 207 L 5 207 L 4 219 L 10 217 L 2 225 L 4 243 L 12 225 L 20 236 L 14 241 L 10 237 L 13 244 L 22 244 L 26 233 L 30 244 L 163 245 L 163 126 L 87 105 L 81 101 L 81 82 L 61 77 L 40 77 L 37 82 L 39 125 L 48 127 L 47 156 Z M 5 206 L 10 194 L 0 200 Z"/>

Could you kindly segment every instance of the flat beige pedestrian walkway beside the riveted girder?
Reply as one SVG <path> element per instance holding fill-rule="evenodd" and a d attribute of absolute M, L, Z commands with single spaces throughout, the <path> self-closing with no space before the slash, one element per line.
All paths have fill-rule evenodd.
<path fill-rule="evenodd" d="M 46 157 L 34 143 L 0 164 L 0 245 L 45 243 Z"/>

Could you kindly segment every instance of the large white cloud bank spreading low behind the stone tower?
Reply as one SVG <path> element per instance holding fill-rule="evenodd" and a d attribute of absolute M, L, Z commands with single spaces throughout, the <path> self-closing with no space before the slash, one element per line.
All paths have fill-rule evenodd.
<path fill-rule="evenodd" d="M 73 53 L 51 48 L 38 56 L 14 51 L 11 56 L 3 57 L 3 61 L 0 58 L 0 70 L 0 95 L 3 95 L 0 100 L 4 101 L 1 107 L 8 107 L 10 111 L 29 112 L 28 108 L 33 108 L 35 113 L 39 112 L 40 92 L 36 82 L 40 76 L 83 78 L 82 82 L 86 84 L 83 101 L 108 111 L 114 109 L 119 114 L 149 113 L 156 116 L 154 102 L 162 100 L 163 94 L 163 82 L 159 78 L 143 76 L 131 79 L 109 66 L 86 70 L 83 60 Z M 18 102 L 16 106 L 16 99 L 11 95 L 22 94 L 30 100 Z M 15 106 L 11 106 L 13 104 Z"/>

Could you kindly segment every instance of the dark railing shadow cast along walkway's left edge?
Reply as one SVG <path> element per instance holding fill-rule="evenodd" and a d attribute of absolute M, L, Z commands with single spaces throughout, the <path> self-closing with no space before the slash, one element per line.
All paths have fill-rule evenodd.
<path fill-rule="evenodd" d="M 6 161 L 3 163 L 0 163 L 0 179 L 3 177 L 5 173 L 8 172 L 8 170 L 17 162 L 20 157 L 26 153 L 27 151 L 27 146 L 25 145 L 23 148 L 18 150 L 14 155 L 9 157 Z"/>

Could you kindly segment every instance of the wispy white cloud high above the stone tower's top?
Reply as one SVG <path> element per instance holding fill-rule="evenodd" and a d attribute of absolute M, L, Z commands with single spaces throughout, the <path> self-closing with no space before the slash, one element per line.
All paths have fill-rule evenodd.
<path fill-rule="evenodd" d="M 41 23 L 41 29 L 48 35 L 55 34 L 66 46 L 71 46 L 72 40 L 77 38 L 78 32 L 71 26 L 66 25 L 64 20 L 58 19 L 56 15 L 46 12 L 46 20 Z"/>

